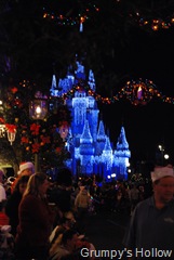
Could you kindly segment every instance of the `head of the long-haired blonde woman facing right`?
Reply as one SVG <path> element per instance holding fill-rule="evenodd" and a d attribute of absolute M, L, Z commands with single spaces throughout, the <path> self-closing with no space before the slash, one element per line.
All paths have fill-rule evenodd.
<path fill-rule="evenodd" d="M 37 197 L 39 196 L 44 197 L 49 187 L 50 182 L 45 173 L 42 172 L 34 173 L 32 176 L 29 177 L 24 196 L 26 196 L 27 194 L 31 194 Z"/>

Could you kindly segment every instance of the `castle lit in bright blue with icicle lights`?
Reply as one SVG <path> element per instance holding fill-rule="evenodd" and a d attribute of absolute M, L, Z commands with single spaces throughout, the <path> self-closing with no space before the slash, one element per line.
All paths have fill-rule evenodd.
<path fill-rule="evenodd" d="M 104 121 L 99 119 L 97 102 L 94 98 L 95 78 L 90 69 L 89 77 L 84 66 L 76 62 L 73 73 L 68 68 L 67 76 L 59 79 L 53 75 L 51 96 L 66 96 L 65 104 L 71 112 L 71 126 L 62 129 L 65 134 L 66 148 L 71 158 L 66 166 L 72 170 L 73 176 L 99 174 L 105 181 L 126 180 L 131 152 L 125 138 L 124 127 L 121 127 L 120 135 L 112 147 L 109 136 L 106 134 Z"/>

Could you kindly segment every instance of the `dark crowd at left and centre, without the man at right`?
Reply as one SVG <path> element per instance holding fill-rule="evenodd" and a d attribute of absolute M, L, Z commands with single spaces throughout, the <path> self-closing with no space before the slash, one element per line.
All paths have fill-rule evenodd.
<path fill-rule="evenodd" d="M 5 182 L 1 185 L 5 190 Z M 0 250 L 2 260 L 82 259 L 82 247 L 95 250 L 86 237 L 91 216 L 104 211 L 131 216 L 150 195 L 146 183 L 99 182 L 96 176 L 75 180 L 66 167 L 53 181 L 51 176 L 35 172 L 30 161 L 19 166 L 10 187 L 5 197 L 2 193 L 0 208 L 0 225 L 6 226 L 9 236 Z M 1 237 L 4 245 L 4 234 Z"/>

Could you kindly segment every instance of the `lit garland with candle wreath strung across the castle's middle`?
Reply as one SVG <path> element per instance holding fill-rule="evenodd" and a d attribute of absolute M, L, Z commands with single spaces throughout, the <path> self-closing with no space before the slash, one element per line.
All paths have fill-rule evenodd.
<path fill-rule="evenodd" d="M 31 89 L 32 86 L 36 88 L 36 83 L 31 83 L 27 80 L 24 80 L 23 82 L 19 82 L 21 87 L 26 87 L 27 89 Z M 14 91 L 15 89 L 15 91 Z M 17 96 L 17 91 L 18 89 L 16 87 L 11 88 L 11 92 L 13 92 L 13 95 L 15 98 L 12 99 L 12 96 L 8 98 L 6 103 L 9 109 L 11 108 L 21 108 L 23 106 L 23 100 L 17 99 L 16 102 L 16 96 Z M 97 102 L 101 102 L 103 104 L 113 104 L 115 102 L 118 102 L 120 100 L 129 100 L 132 105 L 146 105 L 149 103 L 151 100 L 156 99 L 159 101 L 162 101 L 164 103 L 169 104 L 174 104 L 174 98 L 171 96 L 165 96 L 160 92 L 157 88 L 157 86 L 152 82 L 152 80 L 145 79 L 143 80 L 139 78 L 138 80 L 130 80 L 128 81 L 121 90 L 113 96 L 102 96 L 98 94 L 96 91 L 92 90 L 90 88 L 90 84 L 85 82 L 85 80 L 80 79 L 76 84 L 72 86 L 72 88 L 61 94 L 58 96 L 59 102 L 62 100 L 62 103 L 65 103 L 65 100 L 71 99 L 75 95 L 76 91 L 86 91 L 89 95 L 93 96 Z M 50 102 L 54 98 L 49 96 Z M 14 101 L 15 102 L 14 102 Z"/>

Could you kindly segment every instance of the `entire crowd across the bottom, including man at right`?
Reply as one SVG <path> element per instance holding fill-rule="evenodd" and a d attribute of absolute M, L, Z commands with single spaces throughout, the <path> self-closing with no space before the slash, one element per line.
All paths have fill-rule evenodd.
<path fill-rule="evenodd" d="M 35 172 L 32 162 L 24 162 L 6 191 L 0 170 L 0 259 L 82 259 L 81 248 L 95 250 L 85 236 L 89 216 L 103 210 L 130 216 L 123 239 L 128 259 L 140 259 L 140 250 L 150 248 L 171 250 L 174 256 L 172 166 L 155 168 L 151 190 L 128 181 L 97 185 L 95 179 L 83 178 L 75 182 L 68 168 L 61 171 L 68 179 L 52 182 L 48 174 Z"/>

